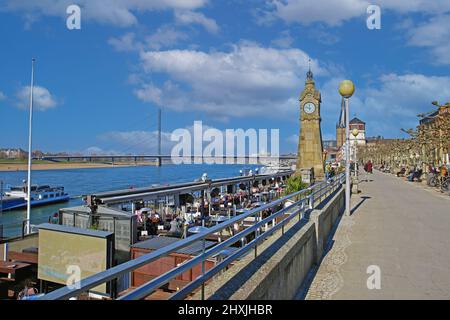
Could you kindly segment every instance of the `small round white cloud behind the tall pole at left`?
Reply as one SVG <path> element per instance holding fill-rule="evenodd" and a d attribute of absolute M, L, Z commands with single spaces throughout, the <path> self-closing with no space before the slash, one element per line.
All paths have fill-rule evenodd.
<path fill-rule="evenodd" d="M 28 109 L 30 103 L 30 86 L 20 88 L 16 93 L 17 107 Z M 48 89 L 35 86 L 33 89 L 33 108 L 39 111 L 46 111 L 55 108 L 58 105 L 57 99 L 48 91 Z"/>

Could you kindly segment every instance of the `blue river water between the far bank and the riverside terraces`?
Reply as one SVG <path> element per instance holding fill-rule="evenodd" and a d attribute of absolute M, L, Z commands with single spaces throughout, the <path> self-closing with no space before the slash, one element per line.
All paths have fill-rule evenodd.
<path fill-rule="evenodd" d="M 130 187 L 148 187 L 154 184 L 167 185 L 191 182 L 200 178 L 203 173 L 207 173 L 208 177 L 212 179 L 238 176 L 239 170 L 242 168 L 243 165 L 192 164 L 33 171 L 33 184 L 63 186 L 74 199 L 55 205 L 33 207 L 31 209 L 31 224 L 47 222 L 48 217 L 60 208 L 82 204 L 83 201 L 81 198 L 77 198 L 78 196 Z M 246 168 L 249 168 L 249 166 L 246 166 Z M 22 185 L 26 176 L 27 173 L 24 171 L 0 172 L 0 180 L 6 186 Z M 2 217 L 0 217 L 0 224 L 4 226 L 3 235 L 5 237 L 20 235 L 22 222 L 25 219 L 26 210 L 3 212 Z"/>

